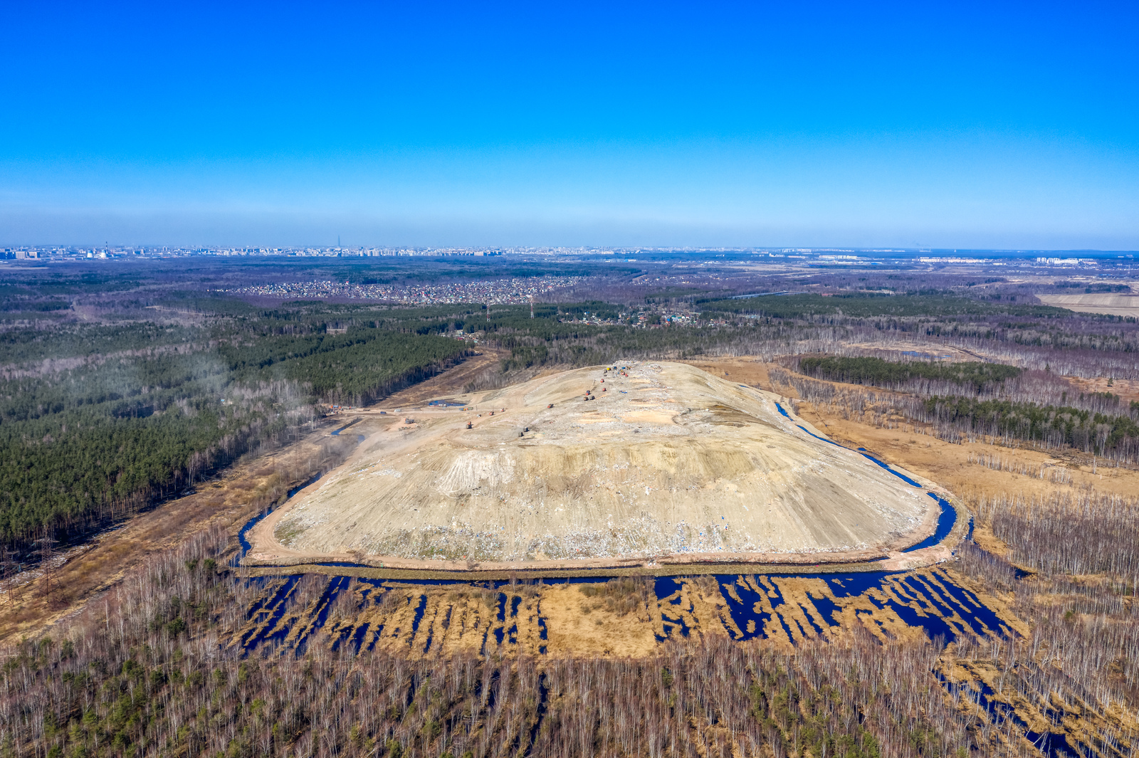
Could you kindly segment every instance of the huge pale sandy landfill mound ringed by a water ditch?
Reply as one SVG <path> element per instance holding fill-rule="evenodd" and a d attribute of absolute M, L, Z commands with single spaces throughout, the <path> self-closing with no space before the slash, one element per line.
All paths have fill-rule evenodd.
<path fill-rule="evenodd" d="M 784 417 L 777 395 L 687 364 L 445 399 L 465 405 L 369 413 L 347 462 L 251 530 L 245 562 L 869 560 L 933 534 L 939 513 L 924 487 Z"/>

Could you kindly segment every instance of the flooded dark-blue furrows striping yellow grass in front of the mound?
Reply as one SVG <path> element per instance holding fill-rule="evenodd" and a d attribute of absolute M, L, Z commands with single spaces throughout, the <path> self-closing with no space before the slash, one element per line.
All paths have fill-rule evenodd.
<path fill-rule="evenodd" d="M 298 625 L 292 648 L 303 653 L 312 635 L 328 623 L 328 615 L 337 596 L 352 586 L 347 576 L 321 577 L 327 582 L 319 599 L 310 607 L 304 618 L 287 611 L 295 608 L 293 593 L 300 577 L 249 579 L 251 586 L 261 587 L 264 599 L 255 602 L 247 611 L 251 626 L 238 644 L 253 651 L 267 642 L 281 643 L 290 634 L 292 626 Z M 829 640 L 841 626 L 859 624 L 867 626 L 883 638 L 904 633 L 907 628 L 918 628 L 929 640 L 939 637 L 944 642 L 961 635 L 1007 637 L 1015 634 L 1010 626 L 986 608 L 973 592 L 953 584 L 941 569 L 917 572 L 850 572 L 850 574 L 787 574 L 787 575 L 715 575 L 719 598 L 700 600 L 702 586 L 706 577 L 658 577 L 653 582 L 653 595 L 659 612 L 654 621 L 655 638 L 664 642 L 671 637 L 687 637 L 696 628 L 708 629 L 716 624 L 736 641 L 772 640 L 800 644 L 806 640 Z M 331 640 L 334 649 L 350 644 L 352 650 L 371 650 L 384 634 L 384 623 L 396 624 L 395 613 L 401 613 L 404 623 L 403 635 L 399 626 L 384 637 L 400 638 L 400 644 L 411 646 L 423 653 L 454 644 L 446 638 L 437 642 L 439 635 L 456 624 L 452 618 L 456 604 L 445 593 L 428 593 L 426 590 L 440 586 L 465 586 L 472 591 L 495 591 L 490 613 L 483 617 L 478 628 L 467 626 L 477 610 L 467 607 L 466 620 L 458 621 L 469 633 L 483 637 L 485 645 L 513 645 L 519 638 L 540 641 L 540 654 L 551 634 L 549 619 L 542 613 L 542 605 L 550 602 L 542 599 L 541 586 L 557 584 L 592 584 L 605 582 L 606 577 L 582 579 L 562 578 L 540 582 L 539 601 L 533 615 L 521 615 L 521 594 L 513 591 L 526 585 L 510 585 L 509 582 L 459 582 L 432 579 L 425 582 L 357 579 L 355 592 L 360 609 L 366 618 L 357 623 L 351 619 L 336 629 Z M 423 587 L 417 591 L 416 587 Z M 390 592 L 399 592 L 400 599 L 385 616 L 376 617 Z M 405 593 L 405 594 L 404 594 Z M 405 600 L 404 600 L 405 598 Z M 711 604 L 706 601 L 711 600 Z M 712 607 L 719 611 L 711 611 Z M 413 618 L 408 619 L 408 611 Z M 703 616 L 699 616 L 702 615 Z M 698 617 L 699 616 L 699 617 Z M 285 619 L 288 619 L 285 623 Z M 410 620 L 410 624 L 408 623 Z M 630 621 L 631 624 L 647 621 Z M 556 629 L 554 629 L 556 631 Z M 460 636 L 461 636 L 460 632 Z M 453 635 L 452 635 L 453 636 Z M 487 640 L 489 637 L 489 640 Z M 443 654 L 443 653 L 440 653 Z"/>

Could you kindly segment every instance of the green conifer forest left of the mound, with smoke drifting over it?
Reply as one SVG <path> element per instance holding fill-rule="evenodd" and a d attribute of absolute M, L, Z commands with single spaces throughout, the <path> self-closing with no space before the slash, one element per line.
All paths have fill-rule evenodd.
<path fill-rule="evenodd" d="M 317 403 L 370 403 L 468 354 L 408 330 L 328 333 L 326 321 L 246 312 L 6 333 L 0 542 L 79 538 L 290 439 Z"/>

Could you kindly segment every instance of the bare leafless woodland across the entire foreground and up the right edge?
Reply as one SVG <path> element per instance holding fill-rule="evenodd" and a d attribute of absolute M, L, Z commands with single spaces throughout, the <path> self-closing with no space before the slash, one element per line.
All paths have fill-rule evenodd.
<path fill-rule="evenodd" d="M 1025 623 L 1016 636 L 879 641 L 855 623 L 842 637 L 792 650 L 708 628 L 616 659 L 531 658 L 493 644 L 484 656 L 451 658 L 357 652 L 334 649 L 330 635 L 300 654 L 272 645 L 245 654 L 219 643 L 256 612 L 248 601 L 263 587 L 227 568 L 232 537 L 203 532 L 51 636 L 7 651 L 0 750 L 17 758 L 924 758 L 1051 755 L 1062 739 L 1077 755 L 1092 747 L 1129 755 L 1139 736 L 1130 726 L 1139 619 L 1136 541 L 1121 519 L 1133 520 L 1136 503 L 1087 499 L 973 503 L 980 525 L 1011 552 L 966 543 L 951 570 L 970 577 L 962 586 L 981 588 L 982 599 L 1002 593 Z M 1064 526 L 1073 514 L 1090 527 L 1074 541 Z M 298 600 L 312 608 L 328 583 L 314 578 Z M 585 594 L 620 611 L 638 582 L 646 580 L 614 579 Z M 969 684 L 969 675 L 978 678 Z M 1024 708 L 1036 716 L 1025 722 Z M 1038 734 L 1026 739 L 1030 727 Z"/>

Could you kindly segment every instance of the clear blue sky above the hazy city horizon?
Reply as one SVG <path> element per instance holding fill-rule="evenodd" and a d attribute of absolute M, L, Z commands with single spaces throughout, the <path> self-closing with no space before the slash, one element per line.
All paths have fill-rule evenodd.
<path fill-rule="evenodd" d="M 0 244 L 1139 248 L 1139 5 L 0 6 Z"/>

